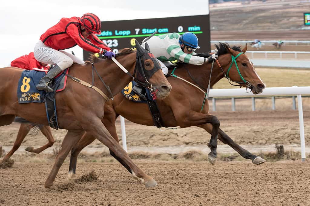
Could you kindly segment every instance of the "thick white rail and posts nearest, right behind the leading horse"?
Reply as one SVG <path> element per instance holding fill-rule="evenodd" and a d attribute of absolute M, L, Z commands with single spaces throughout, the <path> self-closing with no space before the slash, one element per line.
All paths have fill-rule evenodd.
<path fill-rule="evenodd" d="M 300 129 L 300 148 L 301 148 L 301 160 L 306 160 L 306 146 L 305 135 L 303 125 L 303 105 L 301 95 L 310 94 L 310 87 L 271 87 L 265 88 L 263 93 L 254 95 L 253 93 L 246 93 L 246 89 L 211 89 L 209 97 L 251 97 L 251 96 L 273 96 L 273 95 L 297 95 L 298 101 L 298 114 L 299 114 L 299 129 Z M 214 98 L 213 98 L 214 99 Z M 125 132 L 125 120 L 121 116 L 122 127 L 122 142 L 123 148 L 127 151 L 126 132 Z"/>

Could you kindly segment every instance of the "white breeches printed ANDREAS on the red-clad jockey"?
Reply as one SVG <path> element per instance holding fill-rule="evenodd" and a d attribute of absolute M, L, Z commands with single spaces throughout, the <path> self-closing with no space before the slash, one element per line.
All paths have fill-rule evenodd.
<path fill-rule="evenodd" d="M 42 41 L 38 41 L 34 46 L 34 58 L 36 58 L 38 62 L 45 64 L 57 64 L 62 70 L 71 67 L 73 62 L 82 65 L 85 63 L 83 60 L 64 50 L 58 51 L 46 46 Z"/>

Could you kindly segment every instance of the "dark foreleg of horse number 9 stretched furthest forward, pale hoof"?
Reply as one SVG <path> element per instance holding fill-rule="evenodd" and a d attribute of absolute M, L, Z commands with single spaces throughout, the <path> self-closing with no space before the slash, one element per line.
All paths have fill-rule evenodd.
<path fill-rule="evenodd" d="M 211 124 L 204 124 L 204 125 L 199 125 L 197 127 L 201 127 L 204 130 L 206 130 L 208 133 L 211 134 L 212 132 L 212 125 Z M 256 156 L 252 153 L 250 153 L 249 151 L 247 151 L 246 149 L 242 148 L 240 145 L 236 144 L 223 130 L 219 129 L 219 135 L 218 135 L 218 139 L 220 141 L 222 141 L 224 144 L 228 144 L 231 148 L 233 148 L 234 150 L 236 150 L 243 158 L 245 159 L 250 159 L 252 160 L 252 162 L 255 165 L 260 165 L 264 162 L 266 162 L 266 160 L 264 160 L 263 158 Z"/>

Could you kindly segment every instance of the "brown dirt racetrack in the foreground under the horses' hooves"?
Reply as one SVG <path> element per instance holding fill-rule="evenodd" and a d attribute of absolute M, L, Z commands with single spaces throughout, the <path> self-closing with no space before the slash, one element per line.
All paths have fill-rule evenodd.
<path fill-rule="evenodd" d="M 82 163 L 96 182 L 69 182 L 68 164 L 55 185 L 43 184 L 52 164 L 16 163 L 0 170 L 4 205 L 309 205 L 309 162 L 265 163 L 135 161 L 157 187 L 145 188 L 119 163 Z M 38 169 L 39 168 L 39 169 Z"/>

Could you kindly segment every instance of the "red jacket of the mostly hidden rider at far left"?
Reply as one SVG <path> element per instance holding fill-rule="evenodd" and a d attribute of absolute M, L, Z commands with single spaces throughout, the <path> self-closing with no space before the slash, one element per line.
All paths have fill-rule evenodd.
<path fill-rule="evenodd" d="M 11 62 L 11 67 L 32 70 L 33 67 L 41 69 L 43 65 L 34 58 L 33 52 L 30 52 L 29 54 L 13 60 Z"/>

